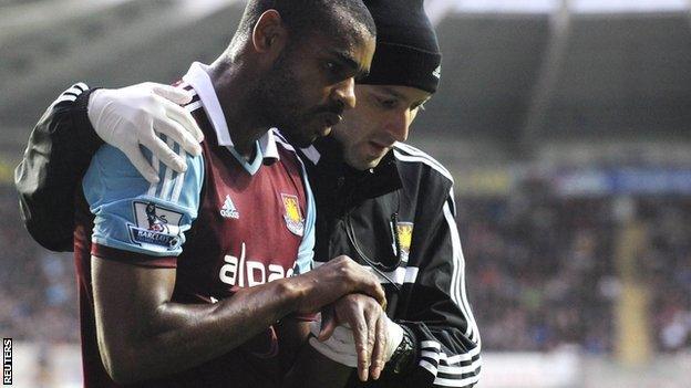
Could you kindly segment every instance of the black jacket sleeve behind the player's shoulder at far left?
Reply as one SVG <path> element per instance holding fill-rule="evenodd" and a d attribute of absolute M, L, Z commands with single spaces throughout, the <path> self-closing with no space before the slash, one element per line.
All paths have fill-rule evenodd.
<path fill-rule="evenodd" d="M 74 192 L 102 145 L 86 117 L 90 94 L 85 84 L 78 83 L 48 107 L 14 171 L 24 224 L 53 251 L 72 251 Z"/>

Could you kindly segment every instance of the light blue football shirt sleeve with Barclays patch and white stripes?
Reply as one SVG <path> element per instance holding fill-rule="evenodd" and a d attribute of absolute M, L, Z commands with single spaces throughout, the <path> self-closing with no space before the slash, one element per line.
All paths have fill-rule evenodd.
<path fill-rule="evenodd" d="M 95 216 L 92 255 L 146 266 L 176 265 L 185 232 L 197 217 L 204 161 L 168 143 L 187 159 L 187 171 L 178 174 L 152 160 L 158 166 L 156 185 L 146 181 L 115 147 L 99 149 L 82 182 Z M 143 151 L 151 160 L 151 153 Z"/>

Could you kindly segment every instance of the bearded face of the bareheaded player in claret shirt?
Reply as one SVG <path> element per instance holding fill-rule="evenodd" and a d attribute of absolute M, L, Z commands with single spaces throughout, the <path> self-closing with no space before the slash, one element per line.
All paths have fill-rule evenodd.
<path fill-rule="evenodd" d="M 261 87 L 266 115 L 299 147 L 327 136 L 355 106 L 354 78 L 370 69 L 374 44 L 371 35 L 319 33 L 288 44 Z"/>

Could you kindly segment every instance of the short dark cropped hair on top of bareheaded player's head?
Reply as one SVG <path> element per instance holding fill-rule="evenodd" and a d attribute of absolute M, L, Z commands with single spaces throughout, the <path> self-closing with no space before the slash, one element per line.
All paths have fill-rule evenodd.
<path fill-rule="evenodd" d="M 311 36 L 314 32 L 342 32 L 343 27 L 360 24 L 377 35 L 374 20 L 361 0 L 249 0 L 235 38 L 248 38 L 259 17 L 275 9 L 291 36 Z M 336 29 L 336 30 L 334 30 Z"/>

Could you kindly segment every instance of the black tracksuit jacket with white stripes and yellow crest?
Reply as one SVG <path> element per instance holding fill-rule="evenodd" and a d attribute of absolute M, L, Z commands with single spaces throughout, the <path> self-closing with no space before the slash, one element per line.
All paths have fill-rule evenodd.
<path fill-rule="evenodd" d="M 48 108 L 16 170 L 23 221 L 49 250 L 72 251 L 75 190 L 102 145 L 86 116 L 92 91 L 75 84 Z M 353 374 L 349 387 L 474 386 L 481 342 L 466 297 L 451 174 L 404 144 L 367 171 L 344 165 L 329 138 L 303 149 L 302 159 L 317 202 L 316 264 L 347 254 L 377 268 L 388 315 L 415 343 L 415 357 L 400 374 L 385 369 L 368 384 Z"/>

